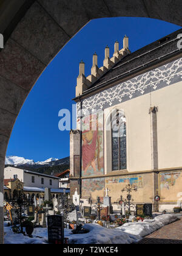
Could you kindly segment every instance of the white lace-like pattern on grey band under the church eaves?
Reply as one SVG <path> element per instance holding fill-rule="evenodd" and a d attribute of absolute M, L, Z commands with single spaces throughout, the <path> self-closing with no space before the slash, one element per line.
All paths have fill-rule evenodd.
<path fill-rule="evenodd" d="M 175 84 L 180 80 L 182 80 L 182 58 L 84 99 L 83 109 L 89 111 L 92 109 L 103 110 L 151 91 Z M 77 109 L 79 111 L 80 102 L 77 104 Z"/>

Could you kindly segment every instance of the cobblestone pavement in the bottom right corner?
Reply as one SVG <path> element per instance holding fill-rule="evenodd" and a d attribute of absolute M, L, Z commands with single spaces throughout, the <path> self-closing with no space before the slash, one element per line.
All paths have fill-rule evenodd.
<path fill-rule="evenodd" d="M 145 236 L 138 244 L 182 244 L 182 218 Z"/>

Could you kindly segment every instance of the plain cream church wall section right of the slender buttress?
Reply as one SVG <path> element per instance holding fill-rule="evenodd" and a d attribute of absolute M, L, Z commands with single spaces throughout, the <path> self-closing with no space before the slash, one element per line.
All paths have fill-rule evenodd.
<path fill-rule="evenodd" d="M 158 106 L 158 168 L 182 166 L 182 82 L 154 91 L 152 105 Z"/>

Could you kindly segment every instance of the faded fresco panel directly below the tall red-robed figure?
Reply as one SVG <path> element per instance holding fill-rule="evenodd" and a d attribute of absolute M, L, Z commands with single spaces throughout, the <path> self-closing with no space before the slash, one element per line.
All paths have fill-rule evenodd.
<path fill-rule="evenodd" d="M 82 196 L 90 197 L 90 194 L 96 190 L 104 189 L 104 178 L 82 180 Z"/>

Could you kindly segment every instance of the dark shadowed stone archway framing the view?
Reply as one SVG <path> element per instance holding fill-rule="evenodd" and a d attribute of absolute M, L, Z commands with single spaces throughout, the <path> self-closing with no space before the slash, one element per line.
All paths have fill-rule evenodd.
<path fill-rule="evenodd" d="M 4 160 L 16 117 L 49 62 L 95 18 L 138 16 L 182 24 L 181 0 L 2 0 L 0 33 L 0 194 Z M 3 243 L 0 205 L 0 243 Z"/>

